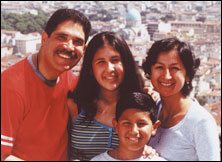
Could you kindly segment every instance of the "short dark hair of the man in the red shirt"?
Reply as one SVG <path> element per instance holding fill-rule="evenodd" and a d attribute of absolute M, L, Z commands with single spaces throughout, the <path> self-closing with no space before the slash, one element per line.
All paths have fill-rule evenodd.
<path fill-rule="evenodd" d="M 85 42 L 87 42 L 91 30 L 90 21 L 85 15 L 73 9 L 59 9 L 50 17 L 45 27 L 45 32 L 48 34 L 48 37 L 50 37 L 59 24 L 67 20 L 71 20 L 83 26 Z"/>

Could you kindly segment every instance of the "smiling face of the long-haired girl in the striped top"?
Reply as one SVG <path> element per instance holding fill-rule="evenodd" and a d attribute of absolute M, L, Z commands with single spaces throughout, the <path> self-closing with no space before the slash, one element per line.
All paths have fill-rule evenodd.
<path fill-rule="evenodd" d="M 120 54 L 111 46 L 100 48 L 92 61 L 93 74 L 102 90 L 116 91 L 124 78 Z"/>

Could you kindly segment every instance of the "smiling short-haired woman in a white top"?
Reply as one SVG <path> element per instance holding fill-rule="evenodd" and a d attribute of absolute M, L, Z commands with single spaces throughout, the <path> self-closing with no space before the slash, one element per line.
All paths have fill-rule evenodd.
<path fill-rule="evenodd" d="M 155 42 L 143 69 L 160 93 L 161 128 L 150 145 L 167 160 L 219 160 L 219 138 L 213 117 L 189 97 L 200 60 L 177 38 Z"/>

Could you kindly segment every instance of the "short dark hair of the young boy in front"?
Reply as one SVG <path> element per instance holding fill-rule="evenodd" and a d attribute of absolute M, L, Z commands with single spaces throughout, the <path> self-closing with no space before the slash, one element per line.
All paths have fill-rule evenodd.
<path fill-rule="evenodd" d="M 142 92 L 133 92 L 129 95 L 124 95 L 120 97 L 116 105 L 116 121 L 118 122 L 120 116 L 124 111 L 132 108 L 149 112 L 152 122 L 156 122 L 156 103 L 150 95 Z"/>

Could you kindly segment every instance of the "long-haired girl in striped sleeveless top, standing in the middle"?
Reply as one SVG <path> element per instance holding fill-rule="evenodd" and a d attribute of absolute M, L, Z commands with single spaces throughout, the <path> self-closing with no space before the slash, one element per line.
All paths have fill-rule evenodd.
<path fill-rule="evenodd" d="M 71 110 L 75 119 L 72 159 L 89 160 L 118 146 L 112 125 L 116 103 L 120 96 L 141 91 L 143 86 L 126 42 L 113 32 L 94 36 L 86 48 L 77 87 L 69 94 L 76 103 Z"/>

